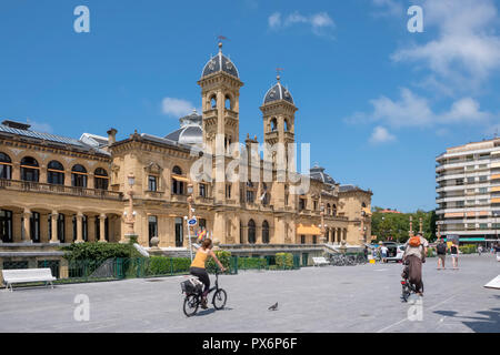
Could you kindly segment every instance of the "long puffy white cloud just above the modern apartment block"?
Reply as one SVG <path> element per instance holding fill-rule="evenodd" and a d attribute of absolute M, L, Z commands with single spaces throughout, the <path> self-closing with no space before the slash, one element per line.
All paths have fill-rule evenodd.
<path fill-rule="evenodd" d="M 370 104 L 373 106 L 371 112 L 357 112 L 346 121 L 348 123 L 382 122 L 391 128 L 400 129 L 487 123 L 496 118 L 490 112 L 481 111 L 479 102 L 471 98 L 454 101 L 447 111 L 434 112 L 426 98 L 414 94 L 407 88 L 401 89 L 399 100 L 382 95 L 370 100 Z"/>

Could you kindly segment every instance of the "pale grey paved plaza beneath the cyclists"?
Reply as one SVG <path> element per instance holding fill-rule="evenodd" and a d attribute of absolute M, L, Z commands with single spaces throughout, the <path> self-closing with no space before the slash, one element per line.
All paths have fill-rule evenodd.
<path fill-rule="evenodd" d="M 500 274 L 492 255 L 464 255 L 458 271 L 429 258 L 421 321 L 408 320 L 400 273 L 379 263 L 222 275 L 227 308 L 190 318 L 182 276 L 1 290 L 0 332 L 500 332 L 500 291 L 483 287 Z M 87 322 L 73 317 L 79 294 L 90 300 Z"/>

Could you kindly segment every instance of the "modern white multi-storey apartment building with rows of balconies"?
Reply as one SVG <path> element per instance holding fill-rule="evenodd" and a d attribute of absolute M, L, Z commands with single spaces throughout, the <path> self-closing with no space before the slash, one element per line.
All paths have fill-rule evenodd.
<path fill-rule="evenodd" d="M 441 235 L 459 235 L 460 242 L 498 240 L 500 138 L 449 148 L 436 162 Z"/>

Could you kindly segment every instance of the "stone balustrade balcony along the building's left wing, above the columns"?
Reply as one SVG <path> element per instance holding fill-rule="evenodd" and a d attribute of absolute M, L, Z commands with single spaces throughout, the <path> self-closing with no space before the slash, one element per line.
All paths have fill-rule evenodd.
<path fill-rule="evenodd" d="M 41 182 L 6 180 L 6 179 L 0 179 L 0 190 L 48 193 L 48 194 L 107 199 L 107 200 L 122 200 L 123 197 L 123 194 L 121 192 L 109 190 L 53 185 Z"/>

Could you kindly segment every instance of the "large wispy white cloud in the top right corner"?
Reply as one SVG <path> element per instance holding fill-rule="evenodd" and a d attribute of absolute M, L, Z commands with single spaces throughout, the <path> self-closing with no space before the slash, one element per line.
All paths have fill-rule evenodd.
<path fill-rule="evenodd" d="M 500 69 L 500 37 L 492 31 L 498 23 L 493 1 L 424 0 L 422 8 L 424 31 L 436 28 L 437 38 L 399 49 L 391 59 L 423 62 L 432 72 L 423 81 L 443 81 L 453 91 L 479 89 Z"/>

